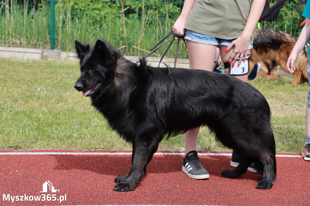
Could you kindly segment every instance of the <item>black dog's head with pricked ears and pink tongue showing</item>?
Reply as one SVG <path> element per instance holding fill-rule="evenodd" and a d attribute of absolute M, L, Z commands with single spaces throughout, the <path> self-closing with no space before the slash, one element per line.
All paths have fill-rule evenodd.
<path fill-rule="evenodd" d="M 98 40 L 93 48 L 75 41 L 77 58 L 80 60 L 81 76 L 74 85 L 83 96 L 98 95 L 115 76 L 118 52 L 105 40 Z"/>

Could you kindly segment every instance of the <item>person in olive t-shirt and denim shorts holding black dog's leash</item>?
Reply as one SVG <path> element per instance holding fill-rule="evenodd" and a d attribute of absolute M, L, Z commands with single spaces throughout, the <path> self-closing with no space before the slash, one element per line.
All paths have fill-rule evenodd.
<path fill-rule="evenodd" d="M 172 31 L 185 34 L 190 69 L 212 71 L 217 47 L 222 62 L 227 62 L 225 74 L 228 74 L 228 65 L 234 67 L 237 63 L 239 66 L 245 61 L 253 48 L 254 29 L 264 4 L 265 0 L 185 0 Z M 235 77 L 244 82 L 248 79 L 248 75 Z M 184 135 L 186 148 L 182 170 L 191 178 L 204 179 L 209 178 L 209 174 L 197 156 L 199 129 L 189 130 Z"/>

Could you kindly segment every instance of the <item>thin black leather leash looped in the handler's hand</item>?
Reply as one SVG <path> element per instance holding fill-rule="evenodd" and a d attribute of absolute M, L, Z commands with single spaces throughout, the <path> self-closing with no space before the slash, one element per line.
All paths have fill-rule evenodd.
<path fill-rule="evenodd" d="M 170 42 L 168 48 L 166 49 L 166 51 L 165 51 L 164 54 L 162 55 L 162 58 L 161 58 L 160 61 L 159 61 L 159 64 L 158 64 L 158 67 L 159 67 L 160 62 L 162 62 L 162 59 L 164 58 L 164 56 L 165 56 L 166 53 L 168 52 L 170 46 L 172 45 L 172 42 L 175 40 L 175 37 L 184 38 L 185 35 L 173 33 L 173 32 L 172 32 L 172 28 L 171 28 L 171 29 L 170 29 L 170 32 L 168 32 L 160 41 L 158 41 L 154 46 L 152 46 L 152 48 L 150 49 L 152 52 L 149 53 L 149 54 L 146 55 L 146 56 L 144 55 L 144 58 L 147 58 L 149 55 L 151 55 L 151 54 L 153 54 L 155 51 L 157 51 L 157 49 L 161 48 L 162 45 L 160 45 L 159 47 L 157 47 L 157 46 L 158 46 L 160 43 L 162 43 L 166 38 L 168 38 L 168 36 L 170 36 L 171 34 L 173 34 L 173 36 L 171 36 L 167 41 L 165 41 L 165 42 L 162 44 L 162 45 L 164 45 L 164 44 L 166 44 L 168 41 L 171 40 L 171 42 Z M 184 39 L 183 39 L 183 40 L 184 40 Z M 180 41 L 180 40 L 178 40 L 178 46 L 177 46 L 176 51 L 175 51 L 175 64 L 174 64 L 174 67 L 175 67 L 175 65 L 176 65 L 176 59 L 177 59 L 177 57 L 178 57 L 178 50 L 180 50 L 180 51 L 185 51 L 185 49 L 186 49 L 186 47 L 187 47 L 187 45 L 186 45 L 186 43 L 185 43 L 185 41 L 184 41 L 185 49 L 184 49 L 184 50 L 181 50 L 180 47 L 179 47 L 179 41 Z M 156 47 L 157 47 L 157 48 L 156 48 Z M 156 48 L 156 49 L 155 49 L 155 48 Z M 138 61 L 138 62 L 139 62 L 139 61 Z M 137 62 L 137 63 L 138 63 L 138 62 Z"/>

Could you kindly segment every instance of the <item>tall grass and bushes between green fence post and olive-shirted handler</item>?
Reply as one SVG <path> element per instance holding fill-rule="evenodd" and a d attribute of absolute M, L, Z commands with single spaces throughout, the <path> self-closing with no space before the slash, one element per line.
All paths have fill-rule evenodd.
<path fill-rule="evenodd" d="M 59 0 L 55 7 L 56 42 L 59 49 L 71 51 L 76 39 L 95 42 L 105 38 L 127 55 L 143 55 L 141 50 L 153 46 L 172 27 L 180 5 L 153 0 Z"/>

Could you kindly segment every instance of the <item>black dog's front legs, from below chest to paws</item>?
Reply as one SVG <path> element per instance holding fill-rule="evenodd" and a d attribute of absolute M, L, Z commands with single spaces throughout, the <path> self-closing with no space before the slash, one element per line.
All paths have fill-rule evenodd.
<path fill-rule="evenodd" d="M 158 137 L 158 136 L 157 136 Z M 152 138 L 151 141 L 146 141 L 147 138 L 138 138 L 133 142 L 133 158 L 132 167 L 126 176 L 118 176 L 115 178 L 117 184 L 114 186 L 116 191 L 132 191 L 141 177 L 146 173 L 146 166 L 151 161 L 153 154 L 158 149 L 158 144 L 161 138 Z"/>

